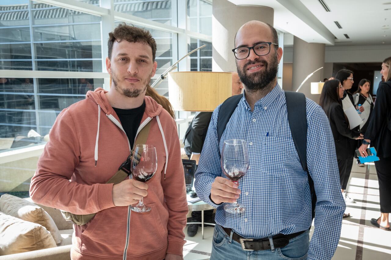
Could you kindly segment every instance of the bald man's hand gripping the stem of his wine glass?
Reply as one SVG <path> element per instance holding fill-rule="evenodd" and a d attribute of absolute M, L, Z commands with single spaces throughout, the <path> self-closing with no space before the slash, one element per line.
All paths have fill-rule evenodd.
<path fill-rule="evenodd" d="M 223 177 L 216 177 L 210 190 L 210 198 L 215 204 L 233 203 L 239 198 L 239 194 L 238 185 Z"/>

